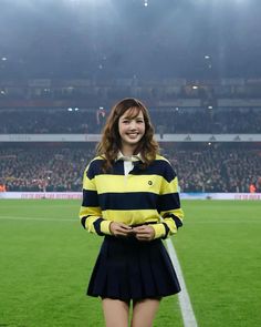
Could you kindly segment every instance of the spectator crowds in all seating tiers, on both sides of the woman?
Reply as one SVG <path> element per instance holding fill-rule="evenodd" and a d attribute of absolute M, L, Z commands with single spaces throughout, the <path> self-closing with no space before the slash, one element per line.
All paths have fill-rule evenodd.
<path fill-rule="evenodd" d="M 215 100 L 216 96 L 244 99 L 260 98 L 259 89 L 217 86 L 192 88 L 155 86 L 139 88 L 139 81 L 133 79 L 129 96 L 150 100 L 195 99 Z M 261 85 L 261 83 L 260 83 Z M 12 88 L 11 88 L 12 89 Z M 11 90 L 10 89 L 10 90 Z M 15 89 L 15 88 L 14 88 Z M 13 89 L 13 90 L 14 90 Z M 123 88 L 122 88 L 123 89 Z M 108 108 L 6 108 L 1 101 L 17 99 L 87 99 L 90 102 L 107 98 L 122 98 L 117 88 L 44 88 L 31 92 L 29 88 L 17 89 L 15 94 L 9 89 L 0 92 L 0 134 L 98 134 L 103 127 Z M 13 91 L 12 90 L 12 91 Z M 36 88 L 35 88 L 36 90 Z M 255 91 L 253 91 L 255 90 Z M 21 92 L 20 92 L 21 91 Z M 119 92 L 119 93 L 117 93 Z M 251 93 L 252 92 L 252 93 Z M 25 98 L 24 98 L 25 96 Z M 211 102 L 211 101 L 210 101 Z M 150 116 L 158 134 L 261 134 L 260 108 L 182 108 L 152 106 Z M 11 145 L 10 145 L 11 146 Z M 69 192 L 81 191 L 82 175 L 87 162 L 94 155 L 94 146 L 84 145 L 29 147 L 28 144 L 14 147 L 0 143 L 0 192 Z M 215 144 L 209 147 L 186 147 L 185 145 L 164 149 L 164 154 L 174 164 L 179 177 L 181 192 L 249 192 L 254 185 L 261 192 L 261 151 L 234 145 Z"/>

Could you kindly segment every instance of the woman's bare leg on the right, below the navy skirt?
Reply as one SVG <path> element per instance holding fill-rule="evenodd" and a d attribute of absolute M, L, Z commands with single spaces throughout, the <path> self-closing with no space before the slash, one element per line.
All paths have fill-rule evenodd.
<path fill-rule="evenodd" d="M 159 302 L 154 298 L 134 302 L 132 327 L 152 327 Z"/>

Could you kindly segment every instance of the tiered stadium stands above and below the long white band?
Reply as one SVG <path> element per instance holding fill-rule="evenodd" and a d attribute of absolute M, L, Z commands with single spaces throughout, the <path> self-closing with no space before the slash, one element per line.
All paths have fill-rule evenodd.
<path fill-rule="evenodd" d="M 160 134 L 261 134 L 261 82 L 250 80 L 97 82 L 1 81 L 0 135 L 98 134 L 107 109 L 137 96 Z M 103 105 L 101 108 L 101 105 Z M 105 115 L 105 116 L 104 116 Z M 70 137 L 69 137 L 70 139 Z M 240 140 L 236 140 L 240 141 Z M 226 144 L 227 143 L 227 144 Z M 260 192 L 257 142 L 160 143 L 182 192 Z M 0 184 L 7 191 L 81 191 L 93 143 L 0 142 Z"/>

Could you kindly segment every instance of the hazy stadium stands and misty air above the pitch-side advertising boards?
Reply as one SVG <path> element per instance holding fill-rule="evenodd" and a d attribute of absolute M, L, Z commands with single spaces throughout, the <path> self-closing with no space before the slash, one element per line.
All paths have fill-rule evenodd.
<path fill-rule="evenodd" d="M 81 191 L 111 106 L 150 110 L 181 192 L 260 192 L 261 2 L 0 0 L 0 184 Z"/>

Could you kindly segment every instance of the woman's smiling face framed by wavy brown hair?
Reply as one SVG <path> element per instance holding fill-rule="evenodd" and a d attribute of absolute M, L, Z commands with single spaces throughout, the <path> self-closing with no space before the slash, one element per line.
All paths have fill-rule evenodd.
<path fill-rule="evenodd" d="M 138 110 L 138 109 L 137 109 Z M 118 120 L 118 133 L 122 141 L 122 150 L 126 147 L 136 147 L 145 134 L 145 121 L 142 110 L 136 113 L 133 108 L 128 109 Z"/>

